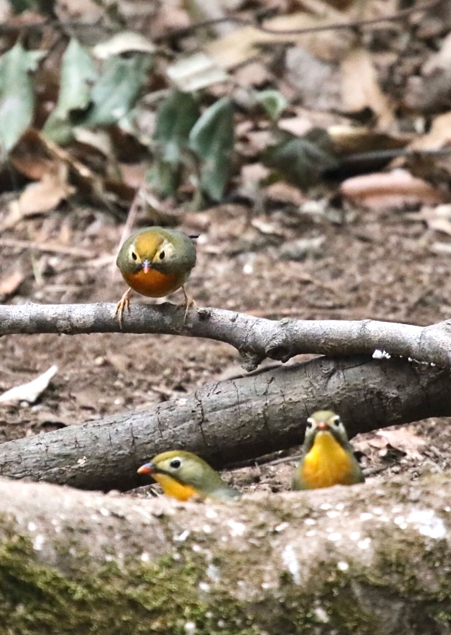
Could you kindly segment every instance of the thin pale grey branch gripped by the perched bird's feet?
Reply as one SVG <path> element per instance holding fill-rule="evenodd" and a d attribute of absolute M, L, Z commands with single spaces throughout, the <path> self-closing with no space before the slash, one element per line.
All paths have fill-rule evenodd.
<path fill-rule="evenodd" d="M 113 304 L 25 304 L 0 306 L 0 335 L 12 333 L 115 333 Z M 173 304 L 132 305 L 124 333 L 167 333 L 206 337 L 234 346 L 253 370 L 266 357 L 287 361 L 301 353 L 372 355 L 375 349 L 417 361 L 451 366 L 451 321 L 414 326 L 375 320 L 274 321 L 223 309 Z"/>

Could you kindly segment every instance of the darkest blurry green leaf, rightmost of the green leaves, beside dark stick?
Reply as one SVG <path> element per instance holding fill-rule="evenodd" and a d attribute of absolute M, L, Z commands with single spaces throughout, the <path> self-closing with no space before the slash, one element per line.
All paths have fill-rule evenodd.
<path fill-rule="evenodd" d="M 326 169 L 337 163 L 327 131 L 313 128 L 303 137 L 284 133 L 282 142 L 266 150 L 263 163 L 280 178 L 301 189 L 316 185 Z"/>

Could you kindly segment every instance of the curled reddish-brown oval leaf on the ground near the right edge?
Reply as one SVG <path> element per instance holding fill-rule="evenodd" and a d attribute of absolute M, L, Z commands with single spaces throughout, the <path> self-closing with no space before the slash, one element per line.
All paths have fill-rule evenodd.
<path fill-rule="evenodd" d="M 392 170 L 348 178 L 341 193 L 355 204 L 373 210 L 402 209 L 417 204 L 436 205 L 445 196 L 427 181 L 412 177 L 407 170 Z"/>

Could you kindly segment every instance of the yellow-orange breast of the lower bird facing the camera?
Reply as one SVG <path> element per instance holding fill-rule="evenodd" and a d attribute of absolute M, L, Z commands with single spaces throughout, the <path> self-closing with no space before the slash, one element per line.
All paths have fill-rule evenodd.
<path fill-rule="evenodd" d="M 320 431 L 299 469 L 301 481 L 312 490 L 332 485 L 350 485 L 353 457 L 330 432 Z"/>

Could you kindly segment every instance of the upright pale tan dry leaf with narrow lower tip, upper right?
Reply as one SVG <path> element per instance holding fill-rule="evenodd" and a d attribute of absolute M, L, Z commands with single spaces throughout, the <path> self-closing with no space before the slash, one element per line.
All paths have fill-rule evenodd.
<path fill-rule="evenodd" d="M 379 126 L 386 128 L 394 120 L 393 109 L 382 93 L 370 53 L 363 48 L 350 51 L 341 63 L 341 98 L 348 112 L 361 112 L 370 108 L 377 116 Z"/>

